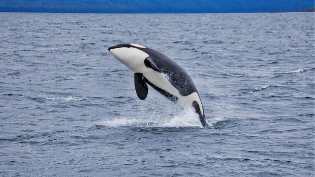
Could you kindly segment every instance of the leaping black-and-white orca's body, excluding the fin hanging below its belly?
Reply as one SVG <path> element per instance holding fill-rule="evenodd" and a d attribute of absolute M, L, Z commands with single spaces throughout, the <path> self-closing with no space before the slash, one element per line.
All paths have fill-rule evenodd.
<path fill-rule="evenodd" d="M 135 90 L 141 100 L 146 99 L 149 84 L 169 100 L 193 107 L 202 126 L 209 127 L 195 85 L 175 61 L 154 49 L 135 43 L 118 44 L 108 50 L 133 71 Z"/>

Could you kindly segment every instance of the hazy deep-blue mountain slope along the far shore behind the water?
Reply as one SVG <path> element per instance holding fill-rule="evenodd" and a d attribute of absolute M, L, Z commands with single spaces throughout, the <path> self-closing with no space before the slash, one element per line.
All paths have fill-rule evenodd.
<path fill-rule="evenodd" d="M 93 13 L 293 12 L 314 0 L 0 0 L 0 11 Z"/>

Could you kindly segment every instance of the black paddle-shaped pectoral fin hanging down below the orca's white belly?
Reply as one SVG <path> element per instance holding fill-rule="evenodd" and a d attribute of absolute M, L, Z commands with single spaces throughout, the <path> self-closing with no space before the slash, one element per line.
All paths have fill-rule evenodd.
<path fill-rule="evenodd" d="M 142 73 L 134 73 L 134 87 L 138 97 L 141 100 L 146 99 L 148 95 L 148 86 L 146 84 L 146 78 Z"/>

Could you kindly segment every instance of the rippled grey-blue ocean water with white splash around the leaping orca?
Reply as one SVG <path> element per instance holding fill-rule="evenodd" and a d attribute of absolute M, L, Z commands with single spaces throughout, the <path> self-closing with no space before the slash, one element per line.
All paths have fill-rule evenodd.
<path fill-rule="evenodd" d="M 314 13 L 0 13 L 0 176 L 314 177 Z M 161 51 L 210 129 L 107 50 Z"/>

